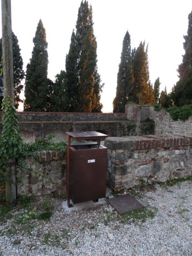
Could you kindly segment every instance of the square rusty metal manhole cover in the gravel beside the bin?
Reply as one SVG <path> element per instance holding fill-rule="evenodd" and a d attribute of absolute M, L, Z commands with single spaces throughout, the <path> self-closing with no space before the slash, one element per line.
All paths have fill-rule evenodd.
<path fill-rule="evenodd" d="M 110 198 L 108 199 L 108 202 L 115 208 L 115 210 L 119 214 L 131 212 L 131 211 L 138 210 L 145 207 L 143 204 L 138 202 L 138 200 L 133 196 L 131 196 L 130 194 Z"/>

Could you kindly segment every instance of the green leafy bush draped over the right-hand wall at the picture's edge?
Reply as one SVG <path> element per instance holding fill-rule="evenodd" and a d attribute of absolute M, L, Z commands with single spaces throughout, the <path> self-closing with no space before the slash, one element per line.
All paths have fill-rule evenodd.
<path fill-rule="evenodd" d="M 187 120 L 190 116 L 192 116 L 192 104 L 181 107 L 174 106 L 172 108 L 168 108 L 167 111 L 175 121 L 178 119 Z"/>

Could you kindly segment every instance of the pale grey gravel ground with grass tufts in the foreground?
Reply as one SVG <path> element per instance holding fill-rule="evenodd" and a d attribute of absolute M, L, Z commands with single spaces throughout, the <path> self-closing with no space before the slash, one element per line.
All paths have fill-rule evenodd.
<path fill-rule="evenodd" d="M 0 256 L 191 256 L 192 181 L 151 187 L 134 190 L 148 204 L 137 214 L 108 202 L 65 212 L 62 200 L 47 198 L 50 220 L 26 221 L 27 210 L 16 208 L 0 222 Z"/>

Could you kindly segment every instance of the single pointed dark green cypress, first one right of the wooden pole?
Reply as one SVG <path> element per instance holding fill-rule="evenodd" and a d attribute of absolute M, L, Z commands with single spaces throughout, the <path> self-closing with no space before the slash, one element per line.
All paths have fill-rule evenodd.
<path fill-rule="evenodd" d="M 32 57 L 26 69 L 24 111 L 49 111 L 48 43 L 41 20 L 38 23 L 33 42 Z"/>

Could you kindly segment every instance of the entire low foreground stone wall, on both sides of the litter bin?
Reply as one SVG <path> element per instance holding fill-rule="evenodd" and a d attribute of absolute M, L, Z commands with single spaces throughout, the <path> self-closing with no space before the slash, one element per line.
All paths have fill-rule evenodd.
<path fill-rule="evenodd" d="M 104 146 L 108 148 L 107 184 L 112 189 L 192 176 L 191 134 L 108 137 Z M 28 168 L 20 171 L 18 194 L 66 192 L 65 157 L 43 151 L 25 160 Z"/>

